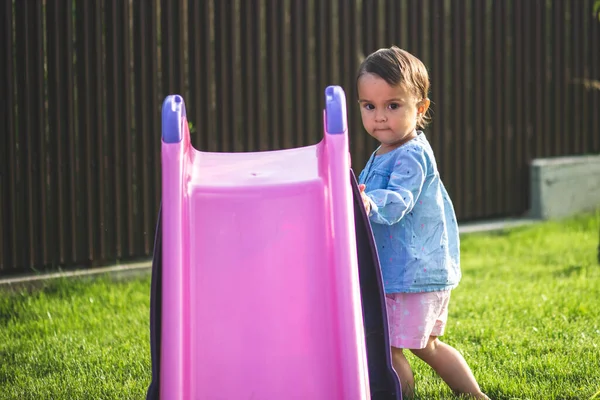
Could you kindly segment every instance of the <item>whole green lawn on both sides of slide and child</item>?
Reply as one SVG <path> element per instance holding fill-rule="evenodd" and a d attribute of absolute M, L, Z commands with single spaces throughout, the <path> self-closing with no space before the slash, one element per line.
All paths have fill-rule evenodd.
<path fill-rule="evenodd" d="M 600 214 L 462 238 L 443 340 L 494 399 L 600 398 Z M 149 277 L 0 291 L 0 399 L 142 399 Z M 420 399 L 451 399 L 409 356 Z"/>

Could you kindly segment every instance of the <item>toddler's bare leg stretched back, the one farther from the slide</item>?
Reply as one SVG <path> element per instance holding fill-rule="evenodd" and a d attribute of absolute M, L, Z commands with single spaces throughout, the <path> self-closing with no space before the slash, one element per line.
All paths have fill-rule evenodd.
<path fill-rule="evenodd" d="M 481 392 L 469 365 L 454 347 L 438 340 L 436 336 L 430 336 L 425 348 L 411 351 L 429 364 L 450 389 L 477 399 L 489 399 Z"/>

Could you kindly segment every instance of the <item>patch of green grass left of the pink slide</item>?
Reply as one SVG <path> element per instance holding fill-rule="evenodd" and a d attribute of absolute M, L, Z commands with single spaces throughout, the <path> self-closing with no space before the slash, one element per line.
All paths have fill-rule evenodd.
<path fill-rule="evenodd" d="M 150 279 L 0 292 L 0 399 L 142 399 Z"/>

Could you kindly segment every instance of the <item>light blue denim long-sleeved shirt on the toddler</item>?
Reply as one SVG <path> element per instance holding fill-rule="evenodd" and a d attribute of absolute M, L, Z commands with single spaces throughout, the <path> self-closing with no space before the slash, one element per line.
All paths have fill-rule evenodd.
<path fill-rule="evenodd" d="M 359 175 L 386 293 L 456 287 L 460 239 L 452 201 L 423 132 L 393 151 L 373 154 Z"/>

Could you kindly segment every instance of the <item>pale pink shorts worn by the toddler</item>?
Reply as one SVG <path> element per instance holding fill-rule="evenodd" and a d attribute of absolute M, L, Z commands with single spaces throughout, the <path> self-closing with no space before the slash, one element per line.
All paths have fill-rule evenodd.
<path fill-rule="evenodd" d="M 442 336 L 448 320 L 450 290 L 385 295 L 390 344 L 422 349 L 429 336 Z"/>

